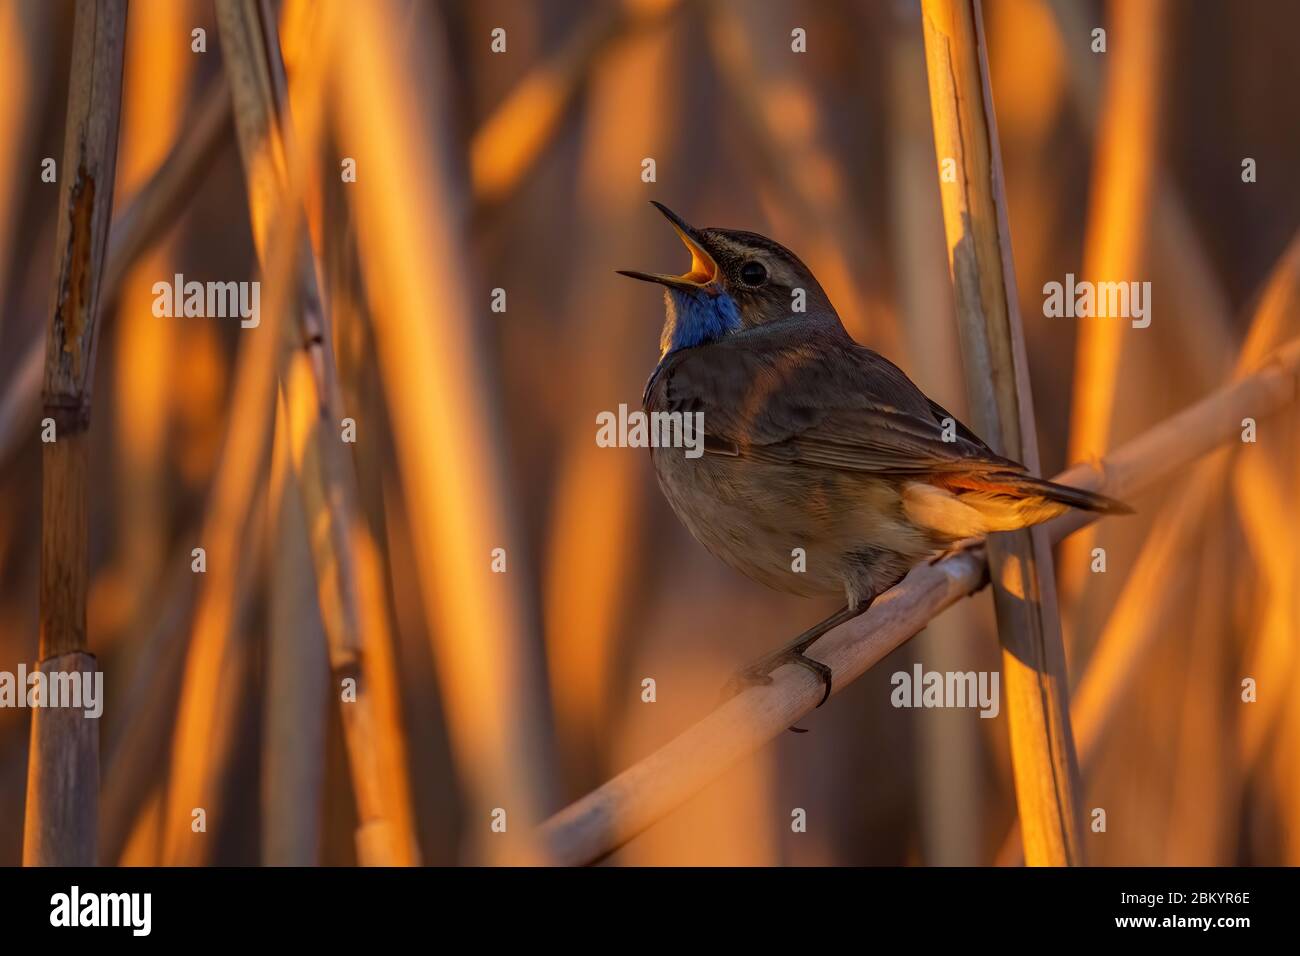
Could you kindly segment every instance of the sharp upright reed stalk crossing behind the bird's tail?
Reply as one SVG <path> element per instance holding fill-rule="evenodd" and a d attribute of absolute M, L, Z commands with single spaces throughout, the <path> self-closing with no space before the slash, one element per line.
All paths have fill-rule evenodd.
<path fill-rule="evenodd" d="M 956 161 L 940 176 L 962 363 L 975 429 L 1039 471 L 1024 336 L 1017 306 L 997 125 L 978 0 L 924 0 L 935 150 Z M 1041 528 L 988 541 L 1015 796 L 1027 858 L 1082 864 L 1079 770 L 1056 605 L 1052 550 Z"/>

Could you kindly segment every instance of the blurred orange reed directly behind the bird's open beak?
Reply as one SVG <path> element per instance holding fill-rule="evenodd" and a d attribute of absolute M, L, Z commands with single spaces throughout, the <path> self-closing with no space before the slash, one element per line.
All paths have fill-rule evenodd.
<path fill-rule="evenodd" d="M 576 155 L 575 238 L 568 250 L 573 274 L 598 276 L 615 260 L 645 261 L 663 238 L 644 228 L 646 186 L 623 173 L 636 143 L 655 143 L 660 168 L 685 160 L 676 134 L 679 104 L 690 90 L 684 66 L 673 34 L 658 30 L 629 36 L 618 56 L 595 68 Z M 628 109 L 632 100 L 636 111 Z M 611 688 L 624 663 L 619 637 L 628 609 L 646 598 L 642 571 L 654 561 L 645 520 L 650 476 L 636 458 L 598 447 L 588 414 L 645 376 L 637 350 L 611 355 L 608 349 L 610 342 L 636 341 L 644 332 L 645 320 L 633 307 L 638 293 L 624 285 L 577 282 L 559 299 L 545 294 L 537 299 L 540 315 L 554 312 L 546 320 L 547 352 L 538 364 L 567 354 L 586 369 L 552 412 L 562 424 L 554 429 L 554 492 L 541 566 L 556 739 L 563 741 L 564 778 L 580 780 L 582 788 L 603 779 L 621 737 L 611 732 L 619 714 Z M 592 334 L 597 328 L 599 334 Z M 575 588 L 575 581 L 582 587 Z"/>

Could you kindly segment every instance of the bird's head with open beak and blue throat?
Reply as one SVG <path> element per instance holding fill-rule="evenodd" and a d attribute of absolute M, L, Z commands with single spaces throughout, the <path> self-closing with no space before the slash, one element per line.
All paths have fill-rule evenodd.
<path fill-rule="evenodd" d="M 685 243 L 690 269 L 680 276 L 619 273 L 664 286 L 664 355 L 779 321 L 816 317 L 838 324 L 816 278 L 780 243 L 758 233 L 696 229 L 667 206 L 654 206 Z"/>

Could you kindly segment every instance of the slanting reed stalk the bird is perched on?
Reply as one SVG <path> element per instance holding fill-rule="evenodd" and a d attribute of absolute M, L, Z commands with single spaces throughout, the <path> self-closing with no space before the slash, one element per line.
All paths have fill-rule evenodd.
<path fill-rule="evenodd" d="M 1138 496 L 1174 477 L 1218 446 L 1238 441 L 1242 419 L 1264 421 L 1300 399 L 1300 339 L 1274 352 L 1258 372 L 1202 398 L 1123 445 L 1096 466 L 1080 464 L 1054 480 L 1119 498 Z M 1096 520 L 1072 512 L 1049 522 L 1050 541 Z M 965 551 L 919 564 L 859 618 L 841 624 L 815 646 L 841 692 L 901 646 L 940 611 L 982 587 L 984 555 Z M 593 862 L 623 845 L 720 777 L 737 760 L 785 732 L 822 700 L 822 683 L 785 666 L 772 683 L 731 698 L 667 745 L 588 793 L 540 829 L 549 858 L 560 865 Z"/>

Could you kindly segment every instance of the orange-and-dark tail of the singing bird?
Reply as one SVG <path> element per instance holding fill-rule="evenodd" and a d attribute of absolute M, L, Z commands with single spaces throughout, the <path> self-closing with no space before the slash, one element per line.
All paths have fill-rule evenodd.
<path fill-rule="evenodd" d="M 1131 507 L 1114 498 L 1019 471 L 962 472 L 945 476 L 941 483 L 933 479 L 911 483 L 902 498 L 915 523 L 950 537 L 1028 528 L 1070 509 L 1132 514 Z"/>

